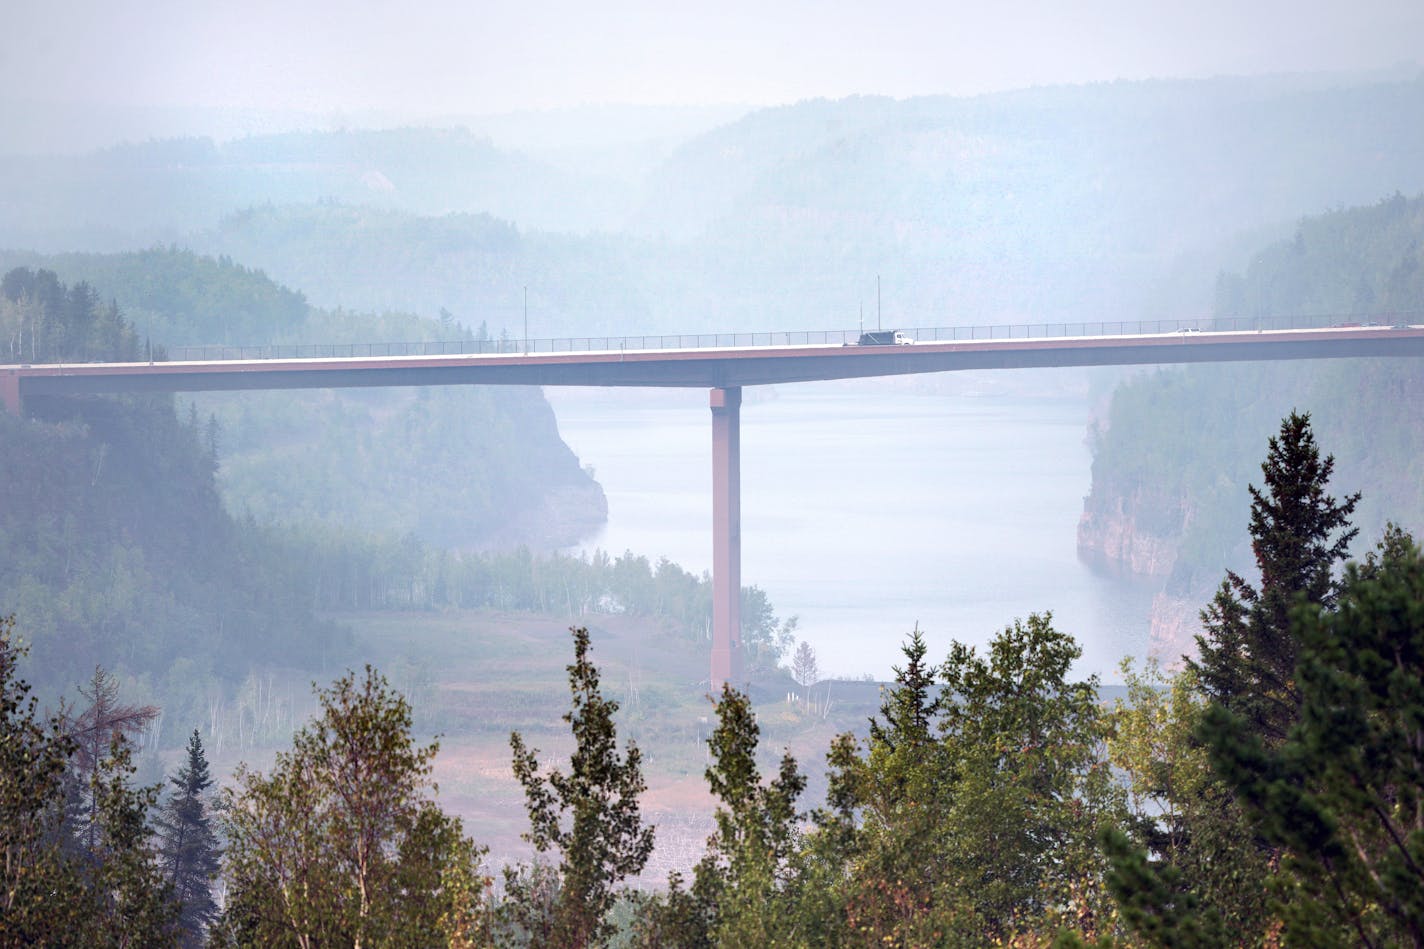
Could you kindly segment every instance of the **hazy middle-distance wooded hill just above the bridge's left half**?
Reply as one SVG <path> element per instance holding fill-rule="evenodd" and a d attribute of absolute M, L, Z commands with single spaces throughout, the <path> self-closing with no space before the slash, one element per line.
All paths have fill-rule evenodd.
<path fill-rule="evenodd" d="M 649 285 L 666 269 L 645 241 L 330 202 L 248 208 L 189 239 L 299 282 L 319 306 L 446 311 L 491 335 L 523 332 L 527 292 L 534 338 L 654 332 Z"/>

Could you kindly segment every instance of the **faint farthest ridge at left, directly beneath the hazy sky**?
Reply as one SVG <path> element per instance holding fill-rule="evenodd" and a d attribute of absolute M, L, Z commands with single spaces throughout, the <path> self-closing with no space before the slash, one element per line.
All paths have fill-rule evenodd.
<path fill-rule="evenodd" d="M 487 211 L 588 228 L 617 194 L 467 130 L 172 138 L 83 155 L 4 155 L 7 245 L 112 251 L 168 241 L 262 204 L 342 201 L 417 214 Z"/>

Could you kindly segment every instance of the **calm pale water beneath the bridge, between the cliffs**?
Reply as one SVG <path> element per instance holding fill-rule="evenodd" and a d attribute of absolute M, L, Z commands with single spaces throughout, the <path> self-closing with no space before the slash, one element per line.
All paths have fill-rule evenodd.
<path fill-rule="evenodd" d="M 742 581 L 766 590 L 823 674 L 890 675 L 918 623 L 930 655 L 984 644 L 1031 611 L 1116 681 L 1146 653 L 1151 590 L 1081 564 L 1087 400 L 928 393 L 903 382 L 746 389 Z M 705 390 L 545 390 L 564 440 L 608 493 L 587 550 L 712 561 Z"/>

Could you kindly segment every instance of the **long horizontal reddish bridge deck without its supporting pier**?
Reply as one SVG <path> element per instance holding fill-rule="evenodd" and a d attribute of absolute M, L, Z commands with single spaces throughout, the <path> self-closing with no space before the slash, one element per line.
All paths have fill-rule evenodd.
<path fill-rule="evenodd" d="M 894 345 L 763 345 L 571 353 L 208 359 L 0 366 L 0 395 L 347 386 L 738 388 L 967 369 L 1424 355 L 1424 326 L 1175 332 Z"/>

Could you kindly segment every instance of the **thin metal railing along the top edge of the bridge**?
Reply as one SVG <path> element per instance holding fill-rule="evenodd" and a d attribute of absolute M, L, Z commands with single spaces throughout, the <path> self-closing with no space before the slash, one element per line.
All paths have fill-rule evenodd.
<path fill-rule="evenodd" d="M 1394 326 L 1424 322 L 1424 312 L 1320 313 L 1306 316 L 1219 316 L 1203 319 L 1084 321 L 1068 323 L 988 323 L 904 328 L 916 342 L 977 339 L 1062 339 L 1071 336 L 1151 336 L 1192 332 Z M 369 343 L 275 343 L 259 346 L 171 346 L 169 361 L 340 359 L 375 356 L 461 356 L 577 352 L 651 352 L 662 349 L 745 349 L 759 346 L 843 346 L 857 329 L 809 329 L 753 333 L 646 333 L 634 336 L 561 336 L 553 339 L 434 339 Z"/>

